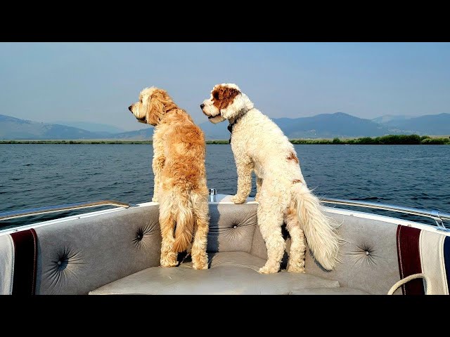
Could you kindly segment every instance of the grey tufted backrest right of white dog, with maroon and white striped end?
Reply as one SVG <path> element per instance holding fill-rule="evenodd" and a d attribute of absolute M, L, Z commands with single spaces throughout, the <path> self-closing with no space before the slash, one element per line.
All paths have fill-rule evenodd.
<path fill-rule="evenodd" d="M 432 283 L 433 293 L 449 294 L 450 237 L 444 232 L 420 230 L 381 220 L 326 213 L 340 227 L 340 260 L 335 270 L 326 271 L 307 252 L 307 273 L 333 279 L 342 287 L 372 294 L 387 294 L 400 279 L 423 272 Z M 290 239 L 286 251 L 289 251 Z M 255 232 L 252 253 L 266 258 L 264 241 Z M 394 294 L 424 293 L 422 279 L 415 279 Z"/>

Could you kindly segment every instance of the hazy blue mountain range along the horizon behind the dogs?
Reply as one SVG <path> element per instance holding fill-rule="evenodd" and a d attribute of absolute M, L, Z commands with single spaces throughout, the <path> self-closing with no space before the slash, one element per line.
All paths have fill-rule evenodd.
<path fill-rule="evenodd" d="M 420 117 L 382 116 L 362 119 L 343 112 L 318 114 L 313 117 L 272 119 L 288 138 L 354 138 L 374 137 L 387 134 L 450 135 L 450 114 L 434 114 Z M 63 122 L 61 122 L 63 123 Z M 148 140 L 153 127 L 138 131 L 114 132 L 113 126 L 105 124 L 46 124 L 27 121 L 0 114 L 0 140 L 75 140 L 75 139 L 124 139 Z M 75 125 L 84 126 L 77 128 Z M 208 140 L 228 139 L 228 122 L 212 124 L 205 121 L 200 128 Z M 89 128 L 89 130 L 86 130 Z M 115 131 L 120 131 L 119 128 Z"/>

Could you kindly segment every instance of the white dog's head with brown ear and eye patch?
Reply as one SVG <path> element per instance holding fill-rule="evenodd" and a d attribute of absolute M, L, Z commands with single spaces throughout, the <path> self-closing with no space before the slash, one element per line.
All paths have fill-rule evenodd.
<path fill-rule="evenodd" d="M 236 84 L 217 84 L 212 88 L 211 97 L 204 100 L 200 108 L 210 122 L 217 124 L 248 112 L 253 103 Z"/>

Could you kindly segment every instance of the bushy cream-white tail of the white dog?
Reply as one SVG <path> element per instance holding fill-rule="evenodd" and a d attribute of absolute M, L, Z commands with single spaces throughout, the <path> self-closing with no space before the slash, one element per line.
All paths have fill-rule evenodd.
<path fill-rule="evenodd" d="M 323 268 L 333 270 L 338 263 L 339 238 L 332 218 L 322 213 L 319 198 L 306 185 L 295 183 L 297 216 L 302 224 L 309 249 Z"/>

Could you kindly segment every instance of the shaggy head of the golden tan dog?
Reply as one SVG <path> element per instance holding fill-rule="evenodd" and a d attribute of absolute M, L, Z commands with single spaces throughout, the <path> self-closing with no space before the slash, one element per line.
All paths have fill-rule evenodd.
<path fill-rule="evenodd" d="M 128 110 L 141 123 L 157 126 L 165 113 L 174 106 L 165 90 L 151 86 L 139 93 L 139 102 L 130 105 Z"/>

